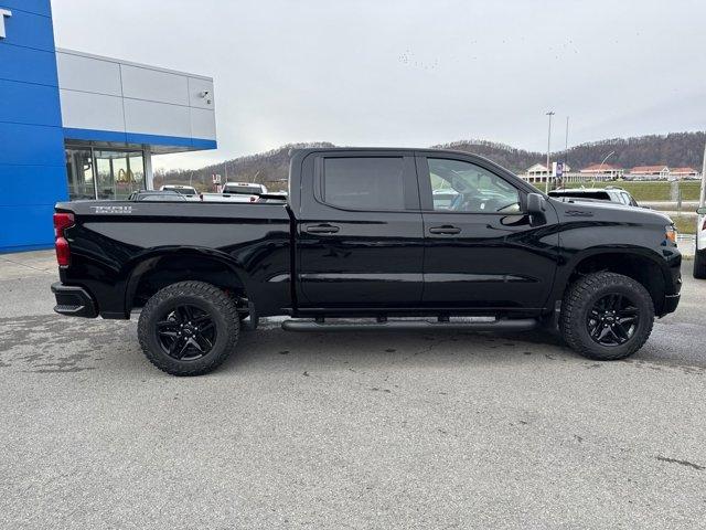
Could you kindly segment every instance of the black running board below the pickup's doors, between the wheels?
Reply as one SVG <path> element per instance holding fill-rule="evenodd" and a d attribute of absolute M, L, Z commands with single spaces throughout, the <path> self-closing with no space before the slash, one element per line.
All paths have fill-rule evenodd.
<path fill-rule="evenodd" d="M 381 329 L 462 329 L 470 331 L 530 331 L 538 325 L 534 318 L 482 320 L 464 319 L 463 321 L 448 321 L 445 319 L 427 320 L 385 320 L 360 322 L 343 321 L 327 324 L 324 319 L 317 320 L 285 320 L 282 329 L 285 331 L 377 331 Z"/>

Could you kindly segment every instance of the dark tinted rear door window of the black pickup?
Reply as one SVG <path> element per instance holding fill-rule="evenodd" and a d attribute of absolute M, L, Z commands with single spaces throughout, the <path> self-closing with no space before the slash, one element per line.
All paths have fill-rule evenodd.
<path fill-rule="evenodd" d="M 404 210 L 402 157 L 325 158 L 323 201 L 353 210 Z"/>

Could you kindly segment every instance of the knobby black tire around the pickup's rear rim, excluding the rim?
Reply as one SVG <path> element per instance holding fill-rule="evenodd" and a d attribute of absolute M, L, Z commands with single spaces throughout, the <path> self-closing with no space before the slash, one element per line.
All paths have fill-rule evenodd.
<path fill-rule="evenodd" d="M 215 342 L 200 359 L 174 359 L 159 343 L 157 322 L 165 310 L 178 304 L 194 305 L 207 311 L 214 322 Z M 202 375 L 218 368 L 235 349 L 239 330 L 240 320 L 233 299 L 205 282 L 180 282 L 158 292 L 145 305 L 137 328 L 145 356 L 157 368 L 172 375 Z"/>

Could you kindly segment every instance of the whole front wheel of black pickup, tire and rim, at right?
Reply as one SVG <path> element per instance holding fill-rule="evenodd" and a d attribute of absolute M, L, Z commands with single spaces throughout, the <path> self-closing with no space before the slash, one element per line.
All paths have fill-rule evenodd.
<path fill-rule="evenodd" d="M 584 276 L 569 286 L 559 326 L 566 343 L 584 357 L 624 359 L 652 332 L 654 305 L 644 286 L 614 273 Z"/>

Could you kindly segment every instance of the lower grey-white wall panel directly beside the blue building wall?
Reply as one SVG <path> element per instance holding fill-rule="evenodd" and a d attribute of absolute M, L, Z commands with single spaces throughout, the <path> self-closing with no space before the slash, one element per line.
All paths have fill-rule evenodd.
<path fill-rule="evenodd" d="M 125 132 L 121 97 L 64 88 L 60 95 L 64 127 Z"/>

